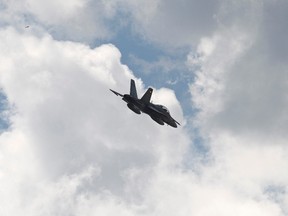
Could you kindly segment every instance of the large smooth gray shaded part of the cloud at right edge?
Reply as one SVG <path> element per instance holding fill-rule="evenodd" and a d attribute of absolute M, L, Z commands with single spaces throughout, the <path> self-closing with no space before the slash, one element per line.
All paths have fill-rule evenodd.
<path fill-rule="evenodd" d="M 222 53 L 226 49 L 226 45 L 219 42 L 222 39 L 212 42 L 216 48 L 207 57 L 208 60 L 204 60 L 201 74 L 207 73 L 205 77 L 219 87 L 213 89 L 214 93 L 209 93 L 211 97 L 217 94 L 221 103 L 216 111 L 218 113 L 211 119 L 210 124 L 215 124 L 213 127 L 218 125 L 235 133 L 254 131 L 263 136 L 286 134 L 288 125 L 285 110 L 288 104 L 285 92 L 288 86 L 287 63 L 284 59 L 288 49 L 281 39 L 287 35 L 284 13 L 281 12 L 286 4 L 276 1 L 272 5 L 264 2 L 261 7 L 263 11 L 259 11 L 255 19 L 251 18 L 251 23 L 257 24 L 254 31 L 250 31 L 250 25 L 247 28 L 240 25 L 238 28 L 241 30 L 235 32 L 234 37 L 220 36 L 227 39 L 226 44 L 231 44 L 225 51 L 227 54 Z M 244 21 L 249 19 L 244 18 Z M 277 29 L 283 30 L 279 32 Z M 232 32 L 230 29 L 226 31 Z M 243 40 L 239 38 L 240 34 L 243 34 Z M 237 47 L 241 52 L 233 56 Z M 221 64 L 223 62 L 225 66 Z M 214 99 L 217 101 L 217 98 Z"/>

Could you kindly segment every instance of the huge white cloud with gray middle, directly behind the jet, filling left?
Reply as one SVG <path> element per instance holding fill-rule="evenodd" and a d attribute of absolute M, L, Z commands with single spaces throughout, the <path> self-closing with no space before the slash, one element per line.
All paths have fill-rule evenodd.
<path fill-rule="evenodd" d="M 136 116 L 109 91 L 124 93 L 136 79 L 113 45 L 90 49 L 13 28 L 1 30 L 0 38 L 0 83 L 16 109 L 10 129 L 0 135 L 4 215 L 85 209 L 127 215 L 127 206 L 143 196 L 138 187 L 149 185 L 158 166 L 181 163 L 185 131 Z M 171 90 L 155 90 L 155 98 L 181 121 Z"/>

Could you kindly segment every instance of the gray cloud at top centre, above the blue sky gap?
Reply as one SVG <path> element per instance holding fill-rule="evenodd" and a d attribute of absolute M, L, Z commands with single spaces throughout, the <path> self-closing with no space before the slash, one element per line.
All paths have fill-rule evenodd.
<path fill-rule="evenodd" d="M 132 26 L 145 39 L 162 46 L 195 45 L 217 26 L 218 1 L 121 1 Z M 124 9 L 125 10 L 125 9 Z"/>

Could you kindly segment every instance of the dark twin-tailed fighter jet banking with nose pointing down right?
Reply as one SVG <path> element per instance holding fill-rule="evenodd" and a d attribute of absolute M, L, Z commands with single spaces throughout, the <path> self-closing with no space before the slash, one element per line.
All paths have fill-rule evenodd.
<path fill-rule="evenodd" d="M 137 91 L 135 87 L 135 81 L 131 79 L 130 84 L 130 94 L 120 94 L 112 89 L 110 89 L 117 96 L 121 96 L 122 100 L 127 103 L 129 109 L 137 114 L 141 114 L 141 112 L 149 115 L 154 121 L 156 121 L 160 125 L 164 125 L 164 123 L 177 128 L 177 124 L 180 125 L 175 119 L 173 119 L 165 106 L 153 104 L 150 102 L 151 95 L 153 92 L 152 88 L 148 88 L 145 94 L 141 99 L 137 96 Z"/>

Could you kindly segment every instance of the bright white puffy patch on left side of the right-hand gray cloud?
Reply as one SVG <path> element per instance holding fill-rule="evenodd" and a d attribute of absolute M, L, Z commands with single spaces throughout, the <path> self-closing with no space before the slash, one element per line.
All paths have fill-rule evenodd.
<path fill-rule="evenodd" d="M 192 68 L 200 67 L 191 85 L 193 105 L 200 109 L 202 124 L 210 115 L 223 109 L 227 74 L 238 58 L 246 51 L 247 36 L 239 31 L 219 32 L 211 38 L 203 38 L 198 46 L 197 55 L 191 53 L 187 64 Z M 203 122 L 204 121 L 204 122 Z"/>

